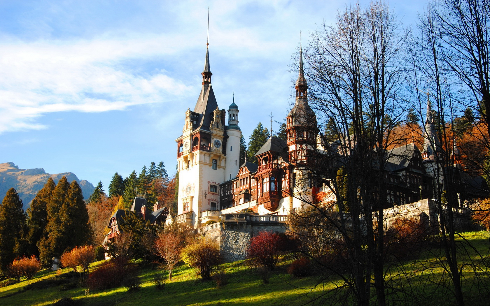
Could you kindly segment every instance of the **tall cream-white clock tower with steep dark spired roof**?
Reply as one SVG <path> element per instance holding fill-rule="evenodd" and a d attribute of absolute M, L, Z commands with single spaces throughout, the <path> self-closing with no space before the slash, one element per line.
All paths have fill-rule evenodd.
<path fill-rule="evenodd" d="M 209 47 L 206 47 L 201 75 L 202 87 L 196 106 L 194 111 L 187 109 L 182 136 L 175 140 L 179 171 L 175 220 L 193 227 L 201 226 L 203 212 L 220 207 L 218 191 L 225 176 L 226 163 L 222 148 L 224 118 L 211 85 Z"/>

